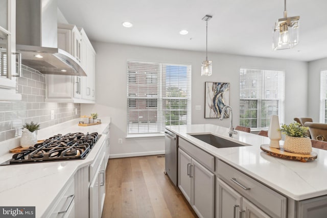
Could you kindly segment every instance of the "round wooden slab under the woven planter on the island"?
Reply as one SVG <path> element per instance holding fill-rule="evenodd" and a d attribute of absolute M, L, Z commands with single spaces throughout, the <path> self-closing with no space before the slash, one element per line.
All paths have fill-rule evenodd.
<path fill-rule="evenodd" d="M 269 147 L 269 144 L 262 144 L 260 146 L 261 150 L 266 152 L 269 155 L 284 158 L 284 159 L 290 159 L 290 160 L 299 160 L 301 162 L 307 162 L 310 160 L 317 159 L 318 154 L 316 152 L 311 152 L 311 154 L 296 154 L 292 152 L 284 151 L 284 148 L 271 148 Z"/>

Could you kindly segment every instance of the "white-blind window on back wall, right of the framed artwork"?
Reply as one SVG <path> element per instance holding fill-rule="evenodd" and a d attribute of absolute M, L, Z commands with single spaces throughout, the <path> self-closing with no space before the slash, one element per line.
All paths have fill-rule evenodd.
<path fill-rule="evenodd" d="M 240 126 L 267 129 L 271 115 L 284 123 L 285 73 L 240 69 Z"/>

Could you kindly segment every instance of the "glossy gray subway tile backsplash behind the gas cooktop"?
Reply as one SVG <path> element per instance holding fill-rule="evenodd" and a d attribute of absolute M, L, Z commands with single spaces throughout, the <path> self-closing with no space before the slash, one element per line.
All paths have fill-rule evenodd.
<path fill-rule="evenodd" d="M 0 103 L 0 141 L 21 135 L 22 125 L 31 121 L 39 123 L 42 129 L 80 117 L 80 104 L 44 102 L 45 76 L 24 65 L 22 69 L 22 77 L 17 78 L 17 92 L 22 100 Z M 55 111 L 53 120 L 51 110 Z"/>

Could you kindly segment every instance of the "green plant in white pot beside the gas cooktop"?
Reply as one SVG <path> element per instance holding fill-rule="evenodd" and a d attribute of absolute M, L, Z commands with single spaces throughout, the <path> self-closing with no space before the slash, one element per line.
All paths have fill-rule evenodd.
<path fill-rule="evenodd" d="M 37 142 L 37 130 L 40 129 L 40 125 L 32 121 L 31 123 L 25 123 L 22 129 L 20 146 L 22 148 L 34 146 Z"/>

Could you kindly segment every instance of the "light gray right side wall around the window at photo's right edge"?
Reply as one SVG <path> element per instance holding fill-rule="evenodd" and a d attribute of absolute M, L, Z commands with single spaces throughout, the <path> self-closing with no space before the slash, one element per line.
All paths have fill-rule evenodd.
<path fill-rule="evenodd" d="M 320 71 L 327 69 L 327 58 L 309 62 L 308 71 L 308 116 L 319 123 Z"/>

